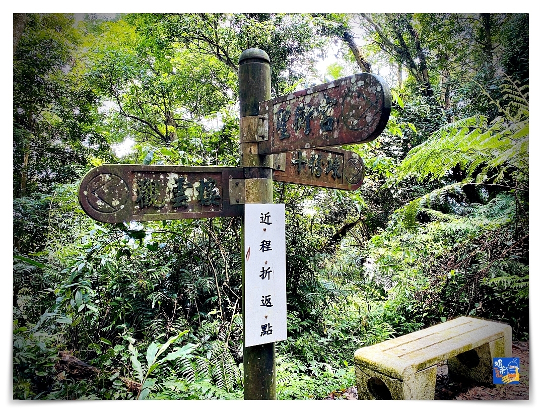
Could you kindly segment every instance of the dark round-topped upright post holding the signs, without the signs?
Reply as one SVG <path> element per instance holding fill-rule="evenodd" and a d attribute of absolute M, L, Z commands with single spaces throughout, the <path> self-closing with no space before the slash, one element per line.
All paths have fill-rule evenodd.
<path fill-rule="evenodd" d="M 244 167 L 245 203 L 273 203 L 273 156 L 260 156 L 257 145 L 258 104 L 271 98 L 269 56 L 260 49 L 244 50 L 239 57 L 240 162 Z M 244 240 L 244 217 L 241 227 Z M 244 241 L 243 241 L 244 242 Z M 241 248 L 243 254 L 244 245 Z M 244 398 L 276 399 L 275 343 L 244 347 L 246 328 L 243 279 L 243 383 Z"/>

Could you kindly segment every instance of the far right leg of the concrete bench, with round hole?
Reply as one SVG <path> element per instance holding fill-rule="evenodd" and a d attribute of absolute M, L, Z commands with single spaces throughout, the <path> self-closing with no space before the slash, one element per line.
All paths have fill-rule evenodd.
<path fill-rule="evenodd" d="M 449 358 L 449 375 L 492 384 L 493 357 L 512 357 L 512 329 L 507 333 L 503 338 Z"/>

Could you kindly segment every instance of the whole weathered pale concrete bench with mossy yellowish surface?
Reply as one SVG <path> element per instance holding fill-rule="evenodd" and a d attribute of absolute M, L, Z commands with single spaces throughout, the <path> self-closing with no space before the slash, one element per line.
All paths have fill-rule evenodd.
<path fill-rule="evenodd" d="M 438 362 L 448 360 L 452 375 L 493 383 L 493 357 L 511 356 L 510 326 L 459 317 L 357 350 L 358 398 L 433 400 Z"/>

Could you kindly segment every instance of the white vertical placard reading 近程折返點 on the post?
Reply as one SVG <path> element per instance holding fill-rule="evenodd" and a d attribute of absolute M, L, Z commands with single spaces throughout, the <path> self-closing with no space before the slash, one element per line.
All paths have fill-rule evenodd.
<path fill-rule="evenodd" d="M 246 347 L 286 340 L 284 204 L 244 204 Z"/>

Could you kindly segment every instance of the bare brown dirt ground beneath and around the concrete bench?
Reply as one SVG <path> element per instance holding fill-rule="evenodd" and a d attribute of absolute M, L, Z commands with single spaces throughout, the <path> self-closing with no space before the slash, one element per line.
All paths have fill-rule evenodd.
<path fill-rule="evenodd" d="M 514 341 L 512 357 L 520 360 L 520 384 L 509 384 L 497 388 L 495 385 L 480 385 L 464 379 L 461 382 L 448 377 L 448 365 L 441 362 L 437 366 L 437 382 L 435 385 L 435 400 L 528 400 L 529 399 L 529 342 Z M 344 392 L 332 392 L 327 400 L 349 399 L 357 400 L 358 392 L 355 387 Z"/>

